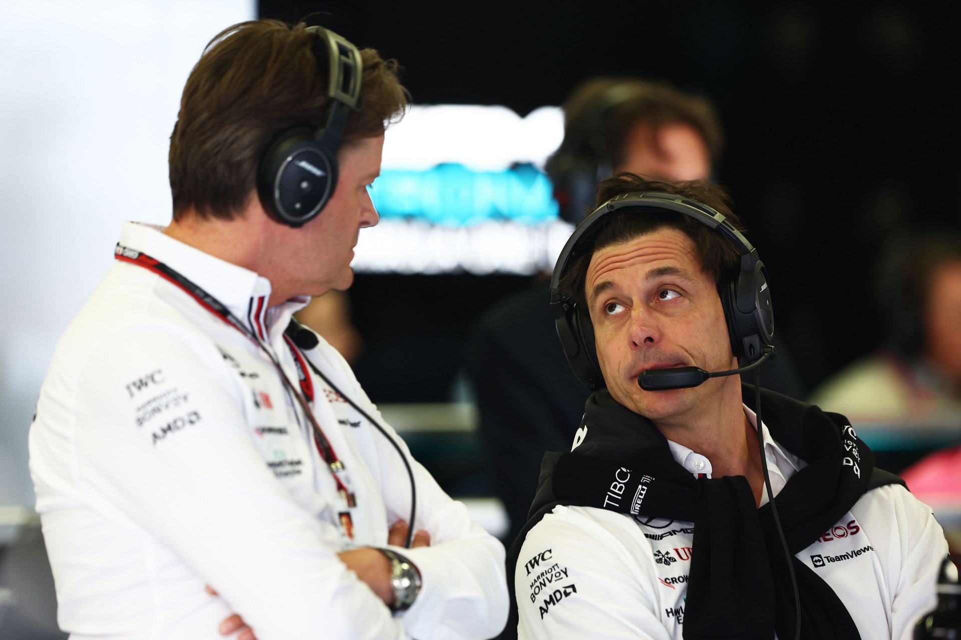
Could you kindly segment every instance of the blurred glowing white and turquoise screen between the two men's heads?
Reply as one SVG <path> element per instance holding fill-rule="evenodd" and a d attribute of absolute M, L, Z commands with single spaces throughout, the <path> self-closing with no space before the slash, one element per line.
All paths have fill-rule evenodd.
<path fill-rule="evenodd" d="M 572 231 L 557 219 L 544 162 L 563 137 L 558 107 L 411 107 L 387 130 L 354 268 L 367 273 L 538 273 Z"/>

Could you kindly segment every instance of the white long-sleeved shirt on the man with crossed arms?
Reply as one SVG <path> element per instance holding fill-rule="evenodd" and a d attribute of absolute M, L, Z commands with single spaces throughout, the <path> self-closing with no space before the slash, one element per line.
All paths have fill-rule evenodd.
<path fill-rule="evenodd" d="M 217 298 L 299 385 L 283 329 L 307 298 L 268 309 L 265 278 L 146 225 L 125 225 L 121 245 Z M 321 339 L 305 355 L 382 420 L 333 347 Z M 321 378 L 308 371 L 305 384 L 357 494 L 355 543 L 385 546 L 409 515 L 404 463 Z M 402 550 L 423 578 L 416 602 L 392 616 L 347 570 L 336 486 L 309 429 L 263 348 L 157 273 L 115 264 L 58 344 L 30 433 L 61 627 L 213 640 L 236 612 L 260 640 L 496 633 L 504 548 L 417 462 L 414 526 L 431 547 Z"/>

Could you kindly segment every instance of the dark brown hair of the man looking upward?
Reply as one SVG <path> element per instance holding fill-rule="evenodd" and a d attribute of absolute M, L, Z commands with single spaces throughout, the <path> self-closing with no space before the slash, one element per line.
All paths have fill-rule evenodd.
<path fill-rule="evenodd" d="M 659 191 L 699 201 L 717 210 L 718 213 L 724 214 L 731 225 L 744 232 L 740 219 L 731 211 L 731 201 L 727 192 L 717 184 L 706 180 L 658 182 L 622 172 L 603 180 L 598 186 L 596 207 L 611 198 L 634 191 Z M 587 267 L 594 252 L 611 245 L 630 242 L 634 238 L 653 233 L 661 228 L 678 229 L 691 239 L 702 269 L 714 278 L 715 283 L 720 284 L 724 277 L 737 270 L 740 264 L 740 253 L 720 233 L 708 228 L 707 225 L 675 211 L 638 212 L 627 209 L 610 214 L 596 233 L 581 241 L 583 247 L 579 255 L 574 258 L 559 282 L 561 292 L 565 296 L 574 298 L 586 313 L 584 286 Z"/>

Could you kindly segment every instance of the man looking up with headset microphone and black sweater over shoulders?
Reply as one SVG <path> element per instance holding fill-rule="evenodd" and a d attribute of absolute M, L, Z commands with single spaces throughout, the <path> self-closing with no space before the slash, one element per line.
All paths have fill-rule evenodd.
<path fill-rule="evenodd" d="M 941 527 L 844 416 L 742 385 L 774 318 L 724 192 L 620 174 L 598 202 L 551 285 L 564 352 L 595 392 L 571 452 L 545 456 L 508 554 L 508 630 L 910 637 L 935 604 Z"/>

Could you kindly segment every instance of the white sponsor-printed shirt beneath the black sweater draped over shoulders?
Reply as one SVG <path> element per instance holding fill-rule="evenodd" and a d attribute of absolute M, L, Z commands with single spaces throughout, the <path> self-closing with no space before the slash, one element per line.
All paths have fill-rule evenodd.
<path fill-rule="evenodd" d="M 745 407 L 745 414 L 756 428 L 754 413 Z M 804 462 L 771 439 L 763 423 L 761 433 L 777 495 Z M 695 476 L 711 472 L 706 457 L 676 442 L 668 446 Z M 519 637 L 679 640 L 693 546 L 690 522 L 554 508 L 530 530 L 518 556 Z M 918 618 L 936 603 L 947 553 L 931 510 L 904 487 L 889 485 L 864 494 L 796 557 L 830 585 L 862 638 L 910 640 Z"/>

